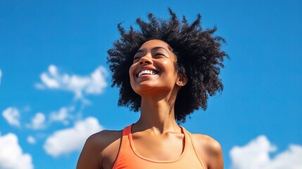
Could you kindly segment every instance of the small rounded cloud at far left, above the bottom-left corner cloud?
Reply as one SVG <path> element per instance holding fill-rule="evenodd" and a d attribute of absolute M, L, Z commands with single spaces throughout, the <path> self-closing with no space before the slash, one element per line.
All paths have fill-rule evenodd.
<path fill-rule="evenodd" d="M 2 112 L 3 117 L 10 125 L 20 126 L 20 113 L 18 108 L 8 107 Z"/>

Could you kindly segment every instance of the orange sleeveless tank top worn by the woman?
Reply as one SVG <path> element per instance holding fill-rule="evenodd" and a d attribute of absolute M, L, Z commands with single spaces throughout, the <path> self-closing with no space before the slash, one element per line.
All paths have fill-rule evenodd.
<path fill-rule="evenodd" d="M 113 169 L 204 169 L 191 142 L 190 133 L 184 127 L 181 127 L 184 133 L 184 151 L 172 161 L 156 161 L 141 156 L 134 147 L 131 128 L 132 125 L 125 127 L 122 131 L 120 151 Z"/>

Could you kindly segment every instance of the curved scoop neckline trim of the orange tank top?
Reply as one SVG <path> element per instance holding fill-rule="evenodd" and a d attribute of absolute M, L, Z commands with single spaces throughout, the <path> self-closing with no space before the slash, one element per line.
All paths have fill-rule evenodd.
<path fill-rule="evenodd" d="M 130 146 L 132 148 L 132 151 L 134 152 L 135 155 L 137 155 L 139 158 L 141 159 L 144 159 L 146 161 L 150 161 L 150 162 L 154 162 L 154 163 L 175 163 L 176 161 L 180 161 L 180 159 L 182 159 L 184 157 L 184 154 L 186 154 L 186 151 L 187 151 L 187 134 L 184 130 L 184 127 L 180 126 L 180 129 L 181 129 L 181 132 L 182 134 L 184 134 L 184 151 L 182 151 L 182 154 L 180 154 L 180 156 L 178 156 L 177 158 L 175 159 L 172 159 L 172 160 L 169 160 L 169 161 L 161 161 L 161 160 L 154 160 L 154 159 L 151 159 L 151 158 L 147 158 L 145 156 L 142 156 L 141 154 L 139 154 L 139 152 L 137 151 L 137 149 L 135 149 L 135 146 L 134 146 L 134 142 L 133 142 L 133 139 L 132 139 L 132 126 L 133 124 L 130 126 L 130 134 L 128 134 L 128 137 L 129 137 L 129 140 L 130 140 Z"/>

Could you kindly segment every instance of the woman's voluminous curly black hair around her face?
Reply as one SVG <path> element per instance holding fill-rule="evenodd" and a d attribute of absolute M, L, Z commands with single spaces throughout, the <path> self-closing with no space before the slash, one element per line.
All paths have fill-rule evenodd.
<path fill-rule="evenodd" d="M 184 123 L 187 115 L 200 107 L 207 108 L 208 95 L 213 96 L 223 89 L 218 77 L 223 68 L 224 57 L 229 57 L 220 49 L 225 39 L 214 36 L 216 27 L 203 30 L 201 15 L 189 25 L 183 16 L 182 20 L 169 8 L 170 19 L 162 20 L 149 13 L 149 23 L 137 18 L 140 30 L 129 31 L 118 24 L 120 39 L 108 50 L 108 63 L 112 71 L 111 87 L 120 87 L 118 106 L 128 106 L 132 111 L 139 111 L 141 96 L 136 94 L 130 85 L 128 70 L 133 56 L 139 47 L 151 39 L 160 39 L 172 48 L 177 58 L 176 70 L 187 76 L 187 84 L 180 89 L 175 101 L 175 120 Z"/>

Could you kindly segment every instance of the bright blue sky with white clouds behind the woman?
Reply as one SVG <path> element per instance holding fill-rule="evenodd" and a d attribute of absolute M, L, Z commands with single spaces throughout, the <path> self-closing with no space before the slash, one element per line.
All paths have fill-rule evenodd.
<path fill-rule="evenodd" d="M 182 125 L 217 139 L 225 168 L 302 168 L 301 1 L 157 0 L 0 1 L 0 168 L 75 168 L 89 134 L 134 123 L 106 51 L 118 23 L 168 7 L 217 25 L 231 57 L 224 91 Z"/>

